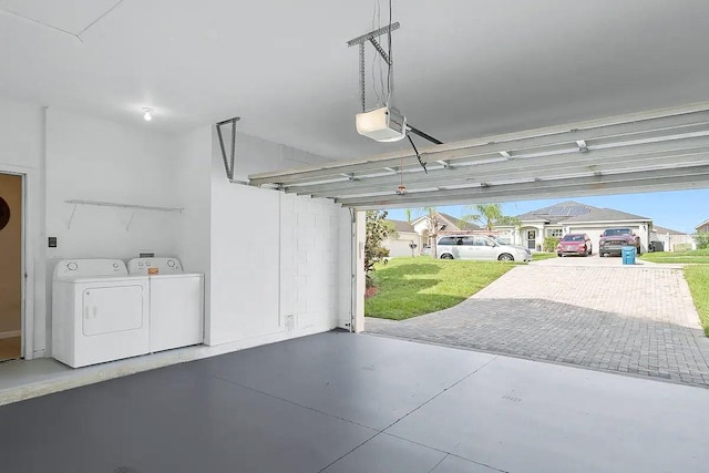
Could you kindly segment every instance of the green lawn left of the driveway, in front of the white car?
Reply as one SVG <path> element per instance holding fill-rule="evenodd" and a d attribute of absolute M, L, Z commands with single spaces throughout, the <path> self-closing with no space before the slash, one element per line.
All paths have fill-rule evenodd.
<path fill-rule="evenodd" d="M 364 301 L 364 315 L 403 320 L 453 307 L 500 276 L 514 263 L 394 258 L 378 265 L 377 294 Z"/>

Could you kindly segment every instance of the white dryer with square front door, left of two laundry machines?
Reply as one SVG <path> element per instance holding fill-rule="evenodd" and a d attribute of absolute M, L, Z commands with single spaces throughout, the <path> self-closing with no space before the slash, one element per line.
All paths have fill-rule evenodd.
<path fill-rule="evenodd" d="M 120 259 L 69 259 L 54 268 L 52 356 L 72 368 L 148 352 L 147 276 Z"/>

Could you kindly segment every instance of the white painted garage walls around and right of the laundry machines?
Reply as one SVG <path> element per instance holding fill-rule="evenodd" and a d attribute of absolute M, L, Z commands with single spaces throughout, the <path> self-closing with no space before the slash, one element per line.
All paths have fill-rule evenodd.
<path fill-rule="evenodd" d="M 0 100 L 0 169 L 28 175 L 28 265 L 37 356 L 51 356 L 59 259 L 176 255 L 205 273 L 207 342 L 229 349 L 342 326 L 352 308 L 350 214 L 330 200 L 228 183 L 213 126 L 178 136 Z M 228 142 L 228 138 L 227 138 Z M 236 178 L 327 161 L 239 135 Z M 69 199 L 184 207 L 79 207 Z M 126 229 L 127 228 L 127 229 Z M 47 248 L 55 236 L 58 248 Z M 287 316 L 292 315 L 292 325 Z"/>

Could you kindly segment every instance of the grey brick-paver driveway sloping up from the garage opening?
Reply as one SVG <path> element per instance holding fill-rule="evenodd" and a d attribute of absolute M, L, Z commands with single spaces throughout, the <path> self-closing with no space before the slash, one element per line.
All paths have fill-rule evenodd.
<path fill-rule="evenodd" d="M 462 304 L 366 331 L 709 387 L 703 336 L 682 273 L 619 258 L 520 266 Z"/>

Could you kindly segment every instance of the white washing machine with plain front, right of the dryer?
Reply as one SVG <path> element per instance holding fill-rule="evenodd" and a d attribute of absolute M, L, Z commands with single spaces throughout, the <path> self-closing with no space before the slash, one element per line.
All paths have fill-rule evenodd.
<path fill-rule="evenodd" d="M 150 279 L 151 352 L 204 340 L 204 275 L 184 273 L 177 258 L 135 258 L 131 275 Z"/>

